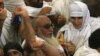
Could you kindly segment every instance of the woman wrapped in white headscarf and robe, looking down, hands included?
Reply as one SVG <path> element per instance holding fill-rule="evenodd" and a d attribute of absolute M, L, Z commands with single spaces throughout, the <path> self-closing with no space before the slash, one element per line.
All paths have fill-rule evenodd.
<path fill-rule="evenodd" d="M 87 45 L 91 32 L 100 27 L 100 21 L 93 21 L 86 4 L 79 1 L 70 4 L 70 22 L 63 26 L 57 35 L 68 52 L 74 53 L 79 47 Z"/>

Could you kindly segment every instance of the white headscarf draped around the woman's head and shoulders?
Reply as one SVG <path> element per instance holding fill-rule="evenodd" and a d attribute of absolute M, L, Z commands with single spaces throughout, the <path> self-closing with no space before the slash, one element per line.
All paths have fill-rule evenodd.
<path fill-rule="evenodd" d="M 57 37 L 61 32 L 65 31 L 65 42 L 71 41 L 75 44 L 77 49 L 80 46 L 84 45 L 85 42 L 87 42 L 88 37 L 91 34 L 91 27 L 89 24 L 90 14 L 86 4 L 79 1 L 74 1 L 73 3 L 71 3 L 70 16 L 83 16 L 82 27 L 80 29 L 75 29 L 73 24 L 70 22 L 60 29 Z"/>

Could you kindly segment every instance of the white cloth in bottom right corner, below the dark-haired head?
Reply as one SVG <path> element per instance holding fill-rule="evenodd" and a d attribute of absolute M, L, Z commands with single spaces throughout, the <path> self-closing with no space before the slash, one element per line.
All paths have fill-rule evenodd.
<path fill-rule="evenodd" d="M 100 53 L 95 49 L 82 46 L 75 52 L 74 56 L 100 56 Z"/>

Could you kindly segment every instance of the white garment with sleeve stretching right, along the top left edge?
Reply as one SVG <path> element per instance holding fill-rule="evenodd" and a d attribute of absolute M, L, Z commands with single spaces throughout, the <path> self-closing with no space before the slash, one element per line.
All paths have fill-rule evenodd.
<path fill-rule="evenodd" d="M 15 11 L 16 6 L 22 7 L 28 11 L 29 16 L 33 17 L 36 17 L 43 7 L 50 7 L 45 3 L 43 4 L 42 8 L 26 6 L 24 0 L 4 0 L 4 5 L 12 13 Z"/>

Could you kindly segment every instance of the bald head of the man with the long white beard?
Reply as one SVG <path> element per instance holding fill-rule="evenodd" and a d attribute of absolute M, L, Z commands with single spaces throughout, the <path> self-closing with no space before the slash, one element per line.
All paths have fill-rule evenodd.
<path fill-rule="evenodd" d="M 51 37 L 53 33 L 53 27 L 50 19 L 47 16 L 38 16 L 36 19 L 36 29 L 38 35 L 45 37 Z"/>

